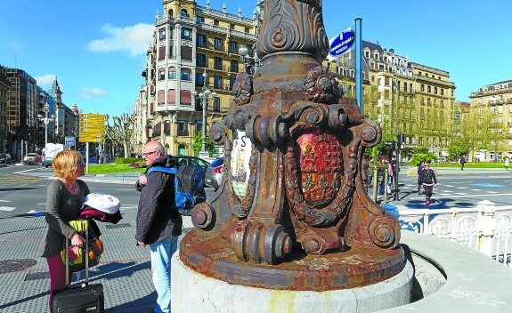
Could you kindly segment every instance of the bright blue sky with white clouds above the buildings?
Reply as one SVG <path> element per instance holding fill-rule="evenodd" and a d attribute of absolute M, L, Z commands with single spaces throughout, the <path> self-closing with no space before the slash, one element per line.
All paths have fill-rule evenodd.
<path fill-rule="evenodd" d="M 205 5 L 207 0 L 198 0 Z M 256 0 L 210 0 L 252 16 Z M 131 113 L 162 0 L 0 0 L 0 64 L 21 68 L 86 113 Z M 457 100 L 512 79 L 512 1 L 323 0 L 330 37 L 362 18 L 364 40 L 450 72 Z"/>

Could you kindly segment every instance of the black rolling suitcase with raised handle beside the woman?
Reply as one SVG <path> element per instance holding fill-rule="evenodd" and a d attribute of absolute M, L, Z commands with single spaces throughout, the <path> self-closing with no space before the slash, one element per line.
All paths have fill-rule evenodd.
<path fill-rule="evenodd" d="M 89 231 L 85 231 L 85 252 L 89 251 Z M 85 254 L 85 284 L 71 287 L 69 283 L 69 244 L 66 240 L 66 289 L 53 296 L 53 313 L 105 312 L 103 285 L 89 285 L 89 258 Z"/>

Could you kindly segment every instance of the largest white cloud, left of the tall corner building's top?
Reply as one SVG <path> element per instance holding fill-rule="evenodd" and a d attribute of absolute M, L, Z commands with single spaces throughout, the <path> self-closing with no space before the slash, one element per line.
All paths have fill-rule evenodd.
<path fill-rule="evenodd" d="M 92 52 L 128 51 L 131 55 L 144 54 L 153 40 L 154 25 L 139 23 L 125 28 L 103 25 L 102 31 L 107 34 L 103 39 L 93 40 L 87 44 Z"/>

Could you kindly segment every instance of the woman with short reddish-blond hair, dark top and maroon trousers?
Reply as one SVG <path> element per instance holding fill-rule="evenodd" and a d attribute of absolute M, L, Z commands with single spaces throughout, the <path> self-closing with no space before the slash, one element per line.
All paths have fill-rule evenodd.
<path fill-rule="evenodd" d="M 46 258 L 50 272 L 50 312 L 53 312 L 53 296 L 66 288 L 66 265 L 61 258 L 65 240 L 71 239 L 71 245 L 85 245 L 85 238 L 69 226 L 70 221 L 78 219 L 85 196 L 90 191 L 84 181 L 84 159 L 75 150 L 64 150 L 55 155 L 52 167 L 57 180 L 52 181 L 46 191 L 45 221 L 48 224 L 40 255 Z M 100 229 L 91 221 L 96 235 Z"/>

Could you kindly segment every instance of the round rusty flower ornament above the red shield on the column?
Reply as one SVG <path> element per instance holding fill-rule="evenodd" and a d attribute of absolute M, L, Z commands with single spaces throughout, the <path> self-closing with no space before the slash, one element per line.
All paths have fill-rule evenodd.
<path fill-rule="evenodd" d="M 334 103 L 343 96 L 343 91 L 329 69 L 312 68 L 305 77 L 307 98 L 313 102 Z"/>

